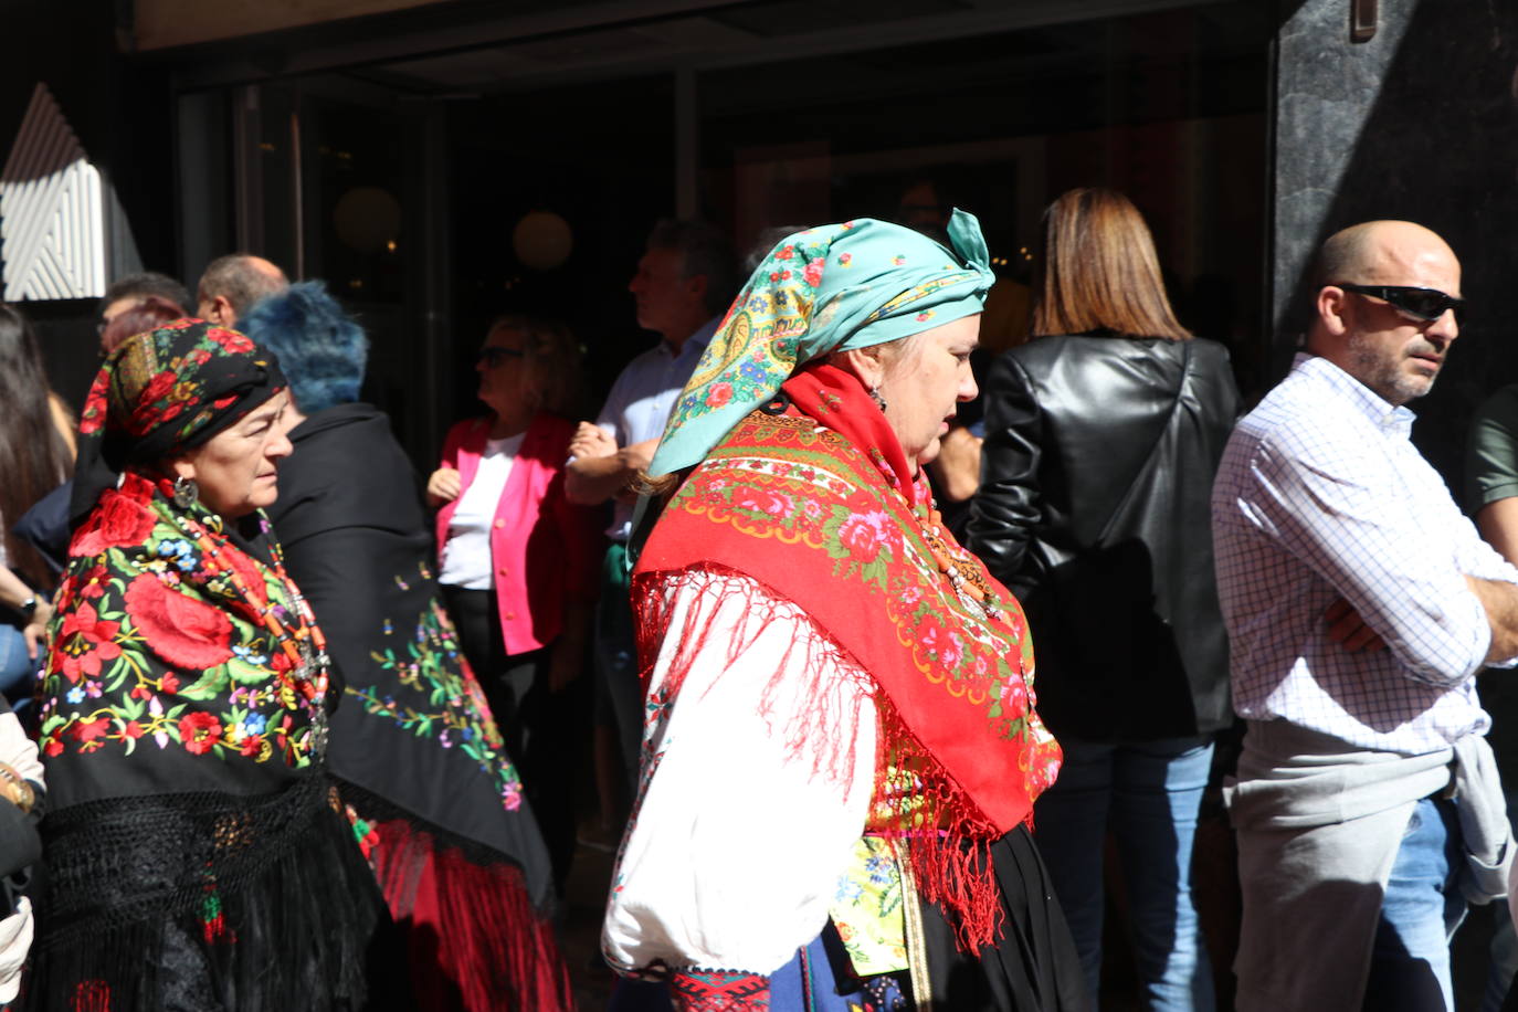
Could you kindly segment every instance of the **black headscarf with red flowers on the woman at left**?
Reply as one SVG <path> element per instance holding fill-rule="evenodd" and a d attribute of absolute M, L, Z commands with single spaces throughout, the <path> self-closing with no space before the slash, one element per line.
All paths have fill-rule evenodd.
<path fill-rule="evenodd" d="M 79 417 L 70 523 L 83 523 L 129 466 L 202 446 L 284 385 L 273 352 L 205 320 L 128 338 L 100 366 Z"/>

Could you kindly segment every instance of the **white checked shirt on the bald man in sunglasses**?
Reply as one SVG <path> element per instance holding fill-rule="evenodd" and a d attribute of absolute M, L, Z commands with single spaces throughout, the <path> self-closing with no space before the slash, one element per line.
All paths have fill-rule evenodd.
<path fill-rule="evenodd" d="M 1518 583 L 1518 569 L 1454 505 L 1409 442 L 1412 420 L 1298 355 L 1234 429 L 1213 542 L 1242 716 L 1407 756 L 1491 727 L 1472 678 L 1491 627 L 1465 575 Z M 1340 596 L 1387 649 L 1328 639 L 1324 611 Z"/>

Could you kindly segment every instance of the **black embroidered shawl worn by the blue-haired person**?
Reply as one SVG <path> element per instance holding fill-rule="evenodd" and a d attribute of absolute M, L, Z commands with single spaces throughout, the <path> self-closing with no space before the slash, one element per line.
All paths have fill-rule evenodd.
<path fill-rule="evenodd" d="M 328 771 L 364 790 L 367 818 L 405 818 L 483 863 L 504 857 L 546 904 L 553 883 L 536 819 L 525 804 L 502 809 L 504 781 L 471 745 L 475 728 L 451 724 L 472 707 L 448 692 L 471 693 L 452 636 L 427 621 L 437 598 L 433 528 L 390 419 L 340 404 L 294 426 L 290 442 L 267 514 L 348 686 Z M 407 715 L 420 719 L 405 724 Z"/>

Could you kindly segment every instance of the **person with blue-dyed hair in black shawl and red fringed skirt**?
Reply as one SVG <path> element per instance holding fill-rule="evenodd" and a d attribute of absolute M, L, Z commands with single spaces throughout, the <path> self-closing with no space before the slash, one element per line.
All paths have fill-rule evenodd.
<path fill-rule="evenodd" d="M 548 850 L 439 602 L 416 473 L 358 401 L 369 338 L 319 281 L 243 326 L 290 381 L 294 454 L 269 519 L 343 677 L 329 769 L 411 935 L 416 1007 L 568 1009 Z"/>

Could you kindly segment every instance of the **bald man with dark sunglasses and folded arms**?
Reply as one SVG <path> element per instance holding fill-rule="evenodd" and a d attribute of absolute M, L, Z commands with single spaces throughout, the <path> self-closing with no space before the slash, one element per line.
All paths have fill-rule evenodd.
<path fill-rule="evenodd" d="M 1518 663 L 1518 569 L 1409 442 L 1460 334 L 1435 232 L 1330 237 L 1307 346 L 1213 489 L 1234 709 L 1237 1009 L 1453 1009 L 1448 939 L 1513 841 L 1475 674 Z"/>

